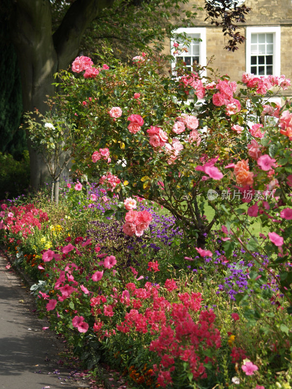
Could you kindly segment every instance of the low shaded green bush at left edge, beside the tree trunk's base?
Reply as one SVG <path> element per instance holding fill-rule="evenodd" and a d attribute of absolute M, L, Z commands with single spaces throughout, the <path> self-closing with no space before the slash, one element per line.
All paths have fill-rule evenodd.
<path fill-rule="evenodd" d="M 17 197 L 29 187 L 29 156 L 24 151 L 20 161 L 0 152 L 0 199 Z"/>

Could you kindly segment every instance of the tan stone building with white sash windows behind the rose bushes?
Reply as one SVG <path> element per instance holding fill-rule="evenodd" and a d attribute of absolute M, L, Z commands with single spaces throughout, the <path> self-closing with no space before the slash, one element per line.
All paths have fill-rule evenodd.
<path fill-rule="evenodd" d="M 204 7 L 203 0 L 193 0 L 193 3 Z M 292 1 L 246 0 L 244 4 L 252 10 L 246 15 L 246 23 L 240 24 L 240 34 L 246 40 L 238 45 L 238 50 L 232 53 L 224 49 L 222 29 L 204 21 L 205 10 L 198 10 L 197 26 L 182 26 L 178 30 L 191 39 L 187 47 L 189 52 L 182 54 L 184 62 L 191 67 L 196 60 L 205 66 L 214 55 L 208 66 L 218 69 L 221 75 L 228 74 L 232 81 L 241 80 L 243 72 L 255 75 L 285 74 L 292 79 Z M 283 94 L 291 96 L 292 87 Z"/>

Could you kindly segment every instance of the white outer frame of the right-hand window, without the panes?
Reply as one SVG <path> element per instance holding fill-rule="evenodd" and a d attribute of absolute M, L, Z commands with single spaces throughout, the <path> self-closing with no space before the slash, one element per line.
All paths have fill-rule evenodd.
<path fill-rule="evenodd" d="M 246 27 L 246 72 L 251 73 L 252 34 L 273 34 L 273 75 L 281 75 L 281 27 Z M 255 74 L 256 75 L 256 74 Z M 259 77 L 258 75 L 256 75 Z"/>

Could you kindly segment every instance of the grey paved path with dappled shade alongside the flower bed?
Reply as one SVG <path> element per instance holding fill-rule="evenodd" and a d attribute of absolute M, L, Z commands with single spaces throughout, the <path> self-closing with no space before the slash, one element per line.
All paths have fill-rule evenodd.
<path fill-rule="evenodd" d="M 0 252 L 0 389 L 88 388 L 58 355 L 64 344 L 34 313 L 34 298 Z M 78 374 L 78 373 L 77 373 Z"/>

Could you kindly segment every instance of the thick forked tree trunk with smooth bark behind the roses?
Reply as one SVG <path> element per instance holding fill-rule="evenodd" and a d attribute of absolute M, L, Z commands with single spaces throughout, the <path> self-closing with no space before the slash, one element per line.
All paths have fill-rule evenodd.
<path fill-rule="evenodd" d="M 10 20 L 13 44 L 18 55 L 23 110 L 37 108 L 42 114 L 48 109 L 46 96 L 53 96 L 54 73 L 66 69 L 77 55 L 80 40 L 89 23 L 113 0 L 76 0 L 55 34 L 49 0 L 15 0 Z M 37 189 L 49 174 L 41 156 L 28 141 L 31 185 Z"/>

